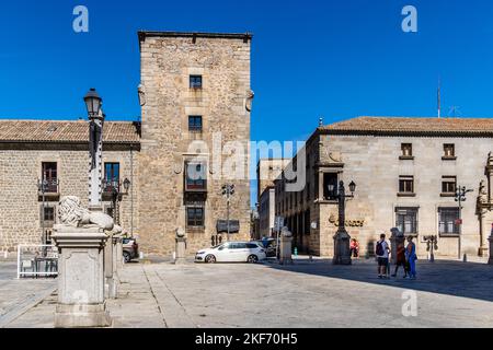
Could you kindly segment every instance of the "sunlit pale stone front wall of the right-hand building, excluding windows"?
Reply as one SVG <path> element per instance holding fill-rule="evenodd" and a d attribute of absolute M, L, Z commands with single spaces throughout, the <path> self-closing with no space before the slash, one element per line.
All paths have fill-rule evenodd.
<path fill-rule="evenodd" d="M 321 162 L 330 161 L 331 152 L 340 152 L 344 163 L 341 179 L 347 185 L 357 184 L 355 198 L 347 202 L 347 220 L 365 220 L 360 229 L 351 229 L 352 236 L 360 241 L 362 253 L 368 244 L 378 240 L 385 231 L 395 226 L 395 207 L 419 208 L 417 253 L 426 256 L 424 235 L 438 235 L 438 208 L 457 208 L 454 197 L 443 197 L 442 177 L 457 176 L 457 183 L 473 189 L 467 195 L 462 210 L 461 250 L 478 255 L 480 226 L 477 215 L 479 184 L 484 176 L 493 140 L 486 138 L 424 138 L 424 137 L 372 137 L 372 136 L 321 136 Z M 400 160 L 401 143 L 413 144 L 414 160 Z M 444 144 L 454 143 L 457 160 L 443 160 Z M 399 197 L 399 176 L 413 175 L 415 197 Z M 337 207 L 326 206 L 323 211 L 336 214 Z M 324 214 L 321 214 L 321 218 Z M 326 217 L 326 215 L 324 215 Z M 322 220 L 322 236 L 334 232 Z M 438 256 L 458 256 L 457 237 L 439 237 Z M 325 253 L 330 254 L 331 247 Z"/>

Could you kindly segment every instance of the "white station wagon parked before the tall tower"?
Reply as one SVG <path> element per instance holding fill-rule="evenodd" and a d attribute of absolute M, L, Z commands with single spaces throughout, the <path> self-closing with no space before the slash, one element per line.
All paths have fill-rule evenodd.
<path fill-rule="evenodd" d="M 259 262 L 266 257 L 264 247 L 255 242 L 227 242 L 197 252 L 195 262 Z"/>

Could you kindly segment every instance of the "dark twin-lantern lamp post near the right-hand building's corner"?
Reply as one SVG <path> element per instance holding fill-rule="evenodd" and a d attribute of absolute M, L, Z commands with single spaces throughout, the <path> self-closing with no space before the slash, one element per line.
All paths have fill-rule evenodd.
<path fill-rule="evenodd" d="M 329 185 L 329 191 L 334 192 L 334 185 Z M 355 182 L 351 182 L 349 191 L 351 195 L 346 195 L 344 188 L 344 182 L 339 183 L 339 194 L 334 197 L 339 200 L 339 229 L 334 235 L 334 265 L 351 265 L 351 236 L 346 231 L 346 198 L 354 198 L 356 190 Z"/>

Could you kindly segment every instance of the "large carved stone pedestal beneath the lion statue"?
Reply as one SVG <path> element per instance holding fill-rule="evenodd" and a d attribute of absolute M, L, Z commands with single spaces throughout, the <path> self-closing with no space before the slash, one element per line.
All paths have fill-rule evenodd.
<path fill-rule="evenodd" d="M 55 327 L 107 327 L 103 249 L 107 235 L 99 228 L 55 228 L 59 255 Z M 111 244 L 110 244 L 111 246 Z"/>

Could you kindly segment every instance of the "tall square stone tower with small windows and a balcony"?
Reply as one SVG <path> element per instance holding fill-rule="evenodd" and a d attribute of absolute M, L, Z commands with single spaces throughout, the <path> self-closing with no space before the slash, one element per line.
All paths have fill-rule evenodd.
<path fill-rule="evenodd" d="M 188 252 L 226 240 L 219 222 L 227 219 L 226 184 L 236 186 L 231 240 L 250 237 L 251 38 L 139 33 L 140 242 L 150 253 L 171 253 L 179 228 Z"/>

